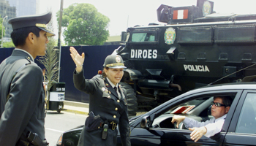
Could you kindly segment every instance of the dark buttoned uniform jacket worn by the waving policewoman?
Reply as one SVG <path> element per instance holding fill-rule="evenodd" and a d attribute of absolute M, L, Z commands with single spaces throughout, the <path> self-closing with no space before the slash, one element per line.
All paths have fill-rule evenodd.
<path fill-rule="evenodd" d="M 73 76 L 75 88 L 88 93 L 89 112 L 93 111 L 94 115 L 99 115 L 102 120 L 108 120 L 118 123 L 118 130 L 121 134 L 121 142 L 123 145 L 131 145 L 129 139 L 129 120 L 127 110 L 126 91 L 124 88 L 118 87 L 121 93 L 121 99 L 118 99 L 116 91 L 111 87 L 108 80 L 97 75 L 87 80 L 83 76 L 83 72 Z M 113 146 L 116 145 L 117 130 L 108 128 L 107 139 L 102 139 L 102 128 L 94 131 L 86 131 L 85 126 L 80 135 L 78 145 L 95 145 L 95 146 Z"/>

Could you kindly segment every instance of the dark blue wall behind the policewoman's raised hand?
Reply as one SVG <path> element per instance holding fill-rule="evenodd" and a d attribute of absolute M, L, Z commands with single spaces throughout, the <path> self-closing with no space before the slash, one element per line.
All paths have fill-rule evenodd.
<path fill-rule="evenodd" d="M 85 61 L 83 64 L 84 75 L 86 79 L 91 79 L 97 74 L 98 70 L 102 70 L 105 57 L 113 53 L 119 45 L 101 45 L 101 46 L 75 46 L 78 53 L 85 53 Z M 12 54 L 14 48 L 0 48 L 0 62 Z M 35 59 L 35 62 L 43 69 L 44 66 Z M 65 100 L 89 102 L 89 95 L 78 91 L 73 84 L 73 72 L 75 63 L 70 56 L 69 47 L 61 47 L 61 71 L 59 82 L 65 82 Z"/>

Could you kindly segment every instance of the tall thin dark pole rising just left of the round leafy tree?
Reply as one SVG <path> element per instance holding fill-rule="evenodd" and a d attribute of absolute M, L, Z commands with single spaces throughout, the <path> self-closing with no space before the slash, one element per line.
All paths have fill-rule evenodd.
<path fill-rule="evenodd" d="M 58 38 L 58 49 L 59 49 L 59 74 L 58 76 L 60 77 L 60 71 L 61 71 L 61 21 L 62 21 L 62 12 L 63 12 L 63 1 L 61 0 L 61 8 L 59 12 L 59 38 Z M 58 82 L 59 82 L 59 77 L 58 77 Z"/>

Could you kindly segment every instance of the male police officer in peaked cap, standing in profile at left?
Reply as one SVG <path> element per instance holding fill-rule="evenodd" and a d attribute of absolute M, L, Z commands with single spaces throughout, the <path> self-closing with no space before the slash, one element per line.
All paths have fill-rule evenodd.
<path fill-rule="evenodd" d="M 12 55 L 0 64 L 0 145 L 48 145 L 45 140 L 45 92 L 42 69 L 34 63 L 45 55 L 51 12 L 12 18 Z"/>

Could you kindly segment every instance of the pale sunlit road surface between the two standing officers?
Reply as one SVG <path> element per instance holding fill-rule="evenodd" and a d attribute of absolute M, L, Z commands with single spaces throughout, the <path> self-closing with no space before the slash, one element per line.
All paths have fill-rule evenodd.
<path fill-rule="evenodd" d="M 72 112 L 48 111 L 45 118 L 45 137 L 50 146 L 56 146 L 57 140 L 64 131 L 83 125 L 86 117 L 87 115 L 75 115 Z"/>

